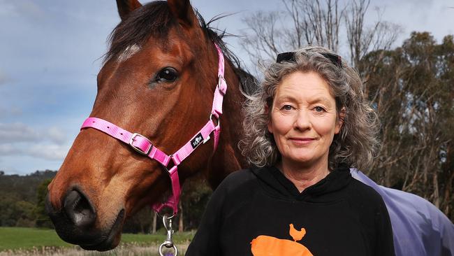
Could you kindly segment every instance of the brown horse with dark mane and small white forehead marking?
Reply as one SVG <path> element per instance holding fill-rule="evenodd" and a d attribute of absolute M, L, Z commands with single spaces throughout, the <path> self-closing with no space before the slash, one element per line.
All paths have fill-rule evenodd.
<path fill-rule="evenodd" d="M 210 116 L 217 43 L 226 57 L 228 84 L 219 145 L 215 152 L 213 140 L 200 145 L 178 168 L 180 183 L 203 172 L 216 187 L 246 166 L 237 142 L 242 91 L 249 89 L 240 82 L 254 78 L 240 69 L 189 0 L 144 6 L 117 0 L 117 7 L 122 21 L 112 31 L 90 117 L 143 134 L 166 154 L 175 152 Z M 61 239 L 88 250 L 110 250 L 120 241 L 125 219 L 160 200 L 169 180 L 158 162 L 101 131 L 84 129 L 48 187 L 46 207 Z"/>

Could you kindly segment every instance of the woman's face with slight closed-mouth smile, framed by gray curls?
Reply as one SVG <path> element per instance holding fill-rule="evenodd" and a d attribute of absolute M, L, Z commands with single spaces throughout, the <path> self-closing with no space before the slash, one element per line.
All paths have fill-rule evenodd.
<path fill-rule="evenodd" d="M 318 73 L 291 73 L 281 80 L 272 103 L 268 131 L 273 134 L 283 164 L 328 166 L 337 121 L 335 98 Z"/>

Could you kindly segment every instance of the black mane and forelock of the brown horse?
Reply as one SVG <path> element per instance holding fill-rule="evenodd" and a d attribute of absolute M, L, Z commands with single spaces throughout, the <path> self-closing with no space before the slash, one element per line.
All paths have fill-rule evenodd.
<path fill-rule="evenodd" d="M 205 35 L 219 45 L 226 61 L 233 64 L 235 74 L 240 78 L 241 89 L 247 95 L 254 94 L 257 89 L 256 78 L 248 71 L 242 69 L 240 59 L 227 47 L 222 38 L 226 35 L 223 31 L 217 34 L 215 29 L 210 27 L 210 24 L 219 20 L 221 16 L 214 17 L 209 22 L 205 22 L 203 17 L 195 10 L 198 17 L 200 27 L 205 32 Z M 170 29 L 177 25 L 177 20 L 173 17 L 168 7 L 167 1 L 153 1 L 147 3 L 141 8 L 134 10 L 126 20 L 120 22 L 112 31 L 108 38 L 110 48 L 105 54 L 104 61 L 119 56 L 127 47 L 137 44 L 143 45 L 150 36 L 167 39 Z"/>

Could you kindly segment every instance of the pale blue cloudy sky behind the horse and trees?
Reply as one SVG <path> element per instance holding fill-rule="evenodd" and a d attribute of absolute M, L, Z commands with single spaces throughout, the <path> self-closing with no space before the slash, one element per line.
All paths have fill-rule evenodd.
<path fill-rule="evenodd" d="M 244 34 L 242 17 L 283 8 L 279 0 L 191 3 L 205 20 L 237 13 L 217 23 L 233 34 Z M 413 30 L 430 31 L 437 40 L 454 33 L 454 8 L 448 8 L 454 0 L 371 5 L 384 8 L 383 20 L 402 25 L 400 42 Z M 0 0 L 0 170 L 26 174 L 59 169 L 91 111 L 100 57 L 118 22 L 114 0 Z M 247 63 L 237 39 L 228 43 Z"/>

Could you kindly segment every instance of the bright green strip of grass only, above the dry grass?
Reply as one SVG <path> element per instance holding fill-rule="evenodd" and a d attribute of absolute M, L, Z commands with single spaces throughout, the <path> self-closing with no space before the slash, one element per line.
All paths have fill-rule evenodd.
<path fill-rule="evenodd" d="M 187 244 L 194 232 L 175 232 L 176 244 Z M 129 243 L 138 246 L 151 246 L 166 239 L 163 231 L 156 234 L 123 234 L 120 246 Z M 0 227 L 0 252 L 5 250 L 31 250 L 43 247 L 74 247 L 62 241 L 52 229 L 33 229 L 24 227 Z"/>

